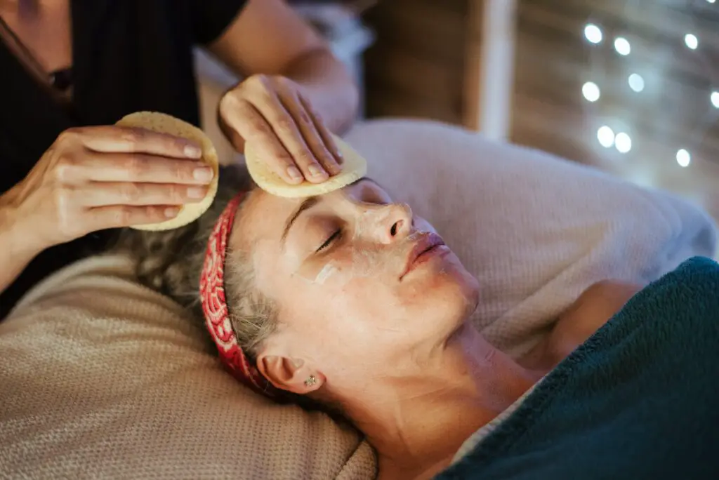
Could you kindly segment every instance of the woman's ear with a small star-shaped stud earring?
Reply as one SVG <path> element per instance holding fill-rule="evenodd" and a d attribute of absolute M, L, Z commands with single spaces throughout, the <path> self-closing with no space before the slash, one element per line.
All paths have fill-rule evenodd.
<path fill-rule="evenodd" d="M 309 368 L 302 359 L 285 356 L 260 354 L 257 369 L 275 388 L 301 395 L 314 392 L 326 380 L 323 374 Z M 314 382 L 308 382 L 310 377 L 314 378 Z"/>

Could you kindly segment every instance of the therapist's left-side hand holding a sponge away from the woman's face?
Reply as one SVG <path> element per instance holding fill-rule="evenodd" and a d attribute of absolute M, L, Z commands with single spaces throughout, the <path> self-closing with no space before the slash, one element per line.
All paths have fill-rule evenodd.
<path fill-rule="evenodd" d="M 204 198 L 213 172 L 190 140 L 145 129 L 64 131 L 5 193 L 13 228 L 46 249 L 92 231 L 155 223 Z"/>

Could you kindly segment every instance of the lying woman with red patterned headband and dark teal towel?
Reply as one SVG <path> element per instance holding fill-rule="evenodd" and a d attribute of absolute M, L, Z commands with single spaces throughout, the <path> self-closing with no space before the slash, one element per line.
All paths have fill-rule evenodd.
<path fill-rule="evenodd" d="M 199 221 L 122 246 L 143 282 L 196 308 L 249 387 L 361 430 L 379 479 L 718 478 L 708 259 L 644 289 L 590 287 L 511 359 L 467 320 L 475 277 L 368 178 L 288 199 L 226 170 Z"/>

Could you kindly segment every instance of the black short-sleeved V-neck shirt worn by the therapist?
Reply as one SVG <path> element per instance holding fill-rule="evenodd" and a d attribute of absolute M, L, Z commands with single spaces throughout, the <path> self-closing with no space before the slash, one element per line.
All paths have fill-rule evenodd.
<path fill-rule="evenodd" d="M 0 41 L 0 192 L 22 180 L 72 126 L 162 111 L 199 125 L 193 46 L 220 36 L 244 0 L 74 0 L 73 96 L 58 103 Z M 32 285 L 100 251 L 111 232 L 48 249 L 0 294 L 0 319 Z M 0 265 L 0 268 L 2 266 Z"/>

